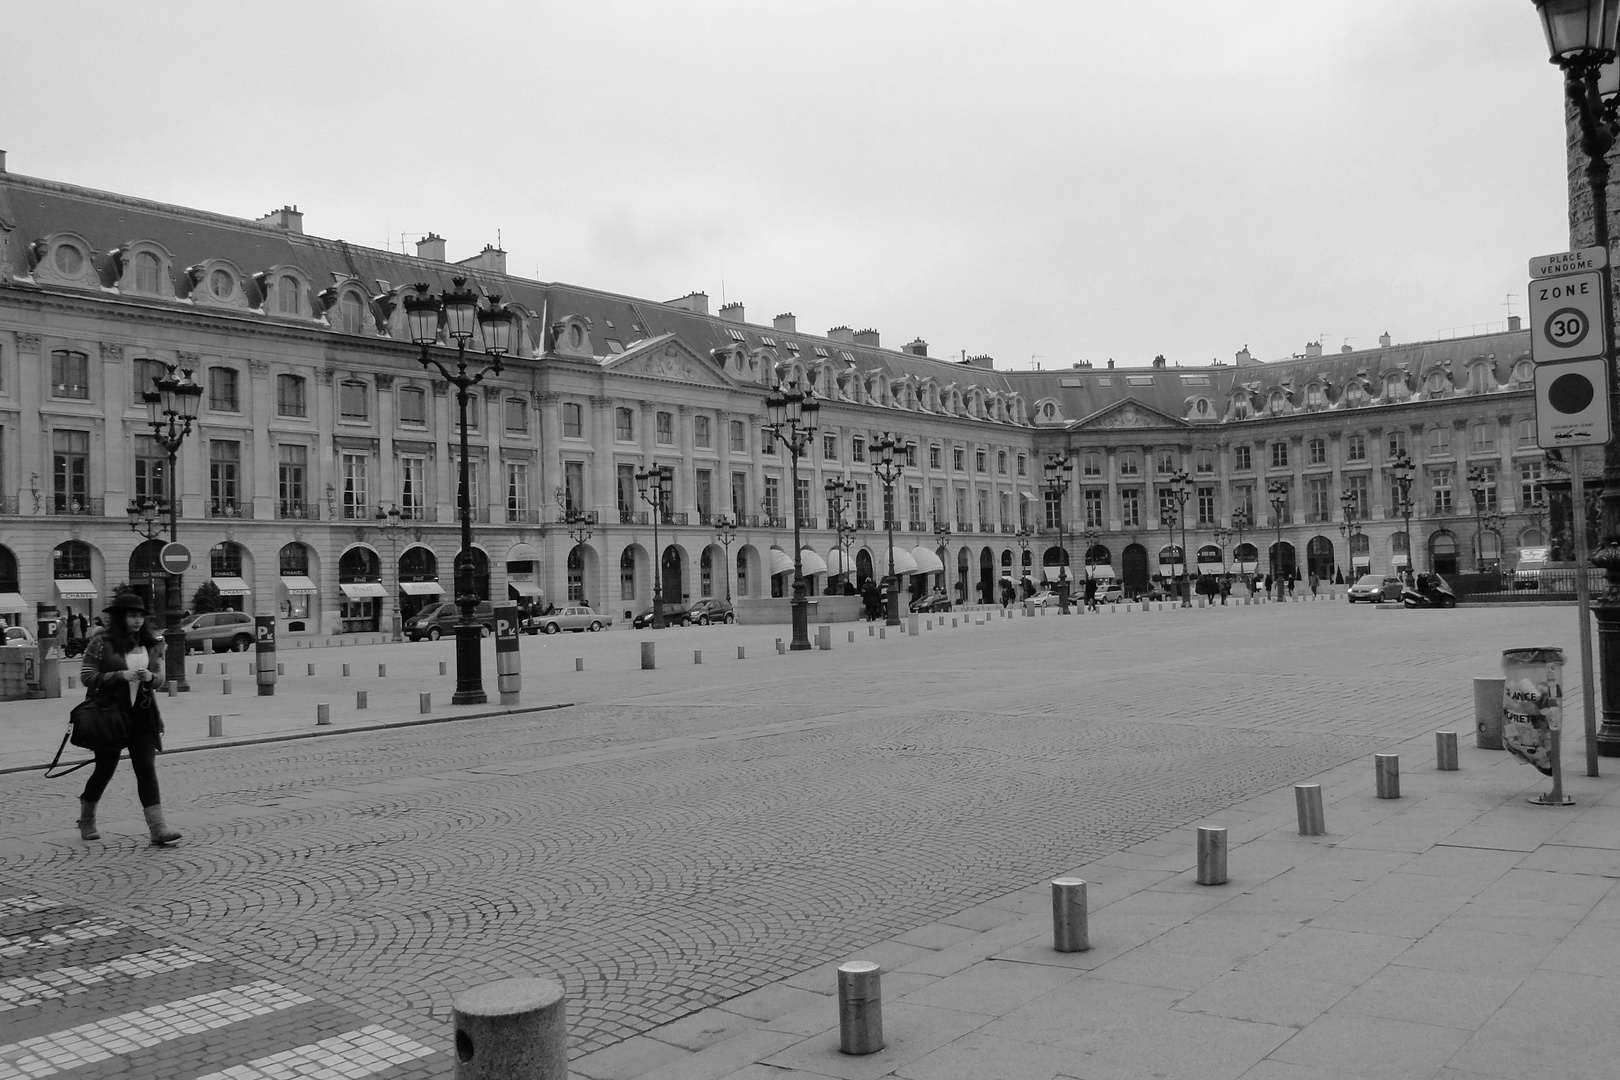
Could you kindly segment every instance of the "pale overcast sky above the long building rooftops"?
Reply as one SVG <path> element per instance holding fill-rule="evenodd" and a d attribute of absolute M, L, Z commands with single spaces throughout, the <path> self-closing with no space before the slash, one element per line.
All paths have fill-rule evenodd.
<path fill-rule="evenodd" d="M 379 248 L 433 230 L 450 259 L 499 230 L 525 277 L 1004 368 L 1482 332 L 1568 241 L 1529 0 L 8 0 L 5 24 L 13 172 L 292 202 Z"/>

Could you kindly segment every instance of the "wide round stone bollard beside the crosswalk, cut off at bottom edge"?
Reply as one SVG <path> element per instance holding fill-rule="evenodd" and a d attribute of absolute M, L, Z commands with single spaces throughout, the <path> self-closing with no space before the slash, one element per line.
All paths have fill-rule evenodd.
<path fill-rule="evenodd" d="M 455 1080 L 569 1080 L 567 997 L 549 978 L 505 978 L 450 999 Z"/>

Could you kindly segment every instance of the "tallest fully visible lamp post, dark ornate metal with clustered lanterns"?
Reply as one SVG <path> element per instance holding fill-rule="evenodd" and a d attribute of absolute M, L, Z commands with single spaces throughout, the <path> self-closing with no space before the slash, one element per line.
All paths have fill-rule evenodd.
<path fill-rule="evenodd" d="M 421 347 L 423 368 L 436 369 L 455 387 L 455 406 L 462 429 L 462 468 L 457 504 L 462 515 L 462 549 L 455 554 L 455 604 L 462 609 L 462 622 L 455 623 L 455 693 L 450 704 L 484 704 L 483 661 L 478 654 L 483 627 L 478 623 L 478 593 L 473 585 L 473 504 L 468 484 L 467 402 L 471 389 L 484 376 L 501 374 L 501 358 L 512 350 L 512 309 L 491 295 L 486 308 L 478 306 L 478 293 L 467 288 L 465 277 L 452 277 L 450 288 L 437 296 L 428 291 L 426 282 L 418 282 L 405 291 L 405 322 L 410 338 Z M 455 371 L 433 355 L 439 330 L 455 342 Z M 467 342 L 478 334 L 483 351 L 489 358 L 476 372 L 467 371 Z"/>

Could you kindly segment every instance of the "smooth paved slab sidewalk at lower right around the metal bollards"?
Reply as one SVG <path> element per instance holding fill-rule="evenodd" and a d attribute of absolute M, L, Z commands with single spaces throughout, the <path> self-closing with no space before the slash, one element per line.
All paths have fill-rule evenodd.
<path fill-rule="evenodd" d="M 1072 868 L 1089 952 L 1051 949 L 1032 882 L 860 949 L 883 967 L 883 1051 L 839 1052 L 836 967 L 802 972 L 570 1062 L 590 1080 L 1486 1080 L 1620 1075 L 1620 785 L 1576 805 L 1473 745 L 1371 756 L 1322 785 L 1328 836 L 1301 837 L 1285 787 Z M 1610 766 L 1610 759 L 1604 759 Z M 1056 811 L 1058 808 L 1055 808 Z M 1196 824 L 1226 826 L 1230 881 L 1196 882 Z"/>

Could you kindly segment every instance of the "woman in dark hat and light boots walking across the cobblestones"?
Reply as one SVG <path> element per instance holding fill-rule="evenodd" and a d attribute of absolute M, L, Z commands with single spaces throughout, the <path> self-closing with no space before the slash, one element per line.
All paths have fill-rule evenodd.
<path fill-rule="evenodd" d="M 164 678 L 164 643 L 146 625 L 146 602 L 134 593 L 115 596 L 104 614 L 107 627 L 96 630 L 84 646 L 79 682 L 87 688 L 87 698 L 115 704 L 123 712 L 130 767 L 134 769 L 146 827 L 152 834 L 152 844 L 173 844 L 180 834 L 164 823 L 162 800 L 157 795 L 157 753 L 164 748 L 164 721 L 152 698 L 152 687 Z M 96 803 L 118 767 L 122 751 L 123 746 L 96 748 L 96 769 L 79 797 L 79 836 L 86 840 L 100 839 L 96 831 Z"/>

